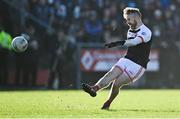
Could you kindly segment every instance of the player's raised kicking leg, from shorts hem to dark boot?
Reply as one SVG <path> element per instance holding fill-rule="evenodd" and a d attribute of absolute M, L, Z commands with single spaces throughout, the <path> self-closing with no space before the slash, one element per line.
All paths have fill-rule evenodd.
<path fill-rule="evenodd" d="M 107 87 L 110 82 L 119 77 L 123 71 L 118 67 L 112 67 L 94 86 L 88 84 L 82 84 L 82 88 L 85 92 L 89 93 L 92 97 L 96 96 L 96 92 L 100 89 Z"/>

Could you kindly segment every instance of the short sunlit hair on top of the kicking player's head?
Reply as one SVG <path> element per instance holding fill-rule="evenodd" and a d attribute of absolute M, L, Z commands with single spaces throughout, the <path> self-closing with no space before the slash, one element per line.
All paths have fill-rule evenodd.
<path fill-rule="evenodd" d="M 138 8 L 126 7 L 126 8 L 123 10 L 123 17 L 124 17 L 124 18 L 126 18 L 127 15 L 130 15 L 130 14 L 138 15 L 138 16 L 141 18 L 141 12 L 139 11 Z"/>

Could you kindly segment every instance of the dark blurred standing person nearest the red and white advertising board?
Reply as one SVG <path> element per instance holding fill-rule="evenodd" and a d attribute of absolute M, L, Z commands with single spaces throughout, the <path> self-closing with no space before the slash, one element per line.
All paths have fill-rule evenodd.
<path fill-rule="evenodd" d="M 58 88 L 62 88 L 63 86 L 62 74 L 66 60 L 65 51 L 67 50 L 65 33 L 62 30 L 59 30 L 56 34 L 56 39 L 57 39 L 57 41 L 55 41 L 56 46 L 53 46 L 54 48 L 51 51 L 52 58 L 51 58 L 50 73 L 48 78 L 49 89 L 58 89 Z"/>

